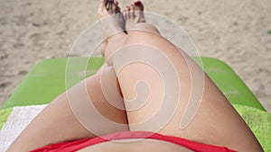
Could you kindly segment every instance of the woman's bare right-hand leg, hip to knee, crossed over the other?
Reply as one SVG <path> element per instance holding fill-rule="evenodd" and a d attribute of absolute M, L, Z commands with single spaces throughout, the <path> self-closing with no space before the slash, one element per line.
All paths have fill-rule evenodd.
<path fill-rule="evenodd" d="M 143 24 L 141 23 L 141 28 Z M 125 99 L 130 130 L 154 130 L 166 135 L 224 146 L 238 151 L 262 151 L 247 124 L 220 92 L 219 88 L 201 70 L 201 67 L 198 67 L 192 61 L 192 58 L 188 57 L 182 50 L 180 52 L 171 42 L 157 33 L 140 31 L 140 28 L 136 25 L 134 30 L 129 31 L 122 48 L 124 49 L 118 50 L 119 53 L 116 51 L 114 55 L 116 60 L 113 62 L 113 66 L 117 71 L 117 77 Z M 143 51 L 145 53 L 142 53 Z M 167 75 L 167 69 L 171 67 L 166 68 L 164 71 L 158 71 L 154 68 L 155 66 L 166 65 L 166 60 L 160 62 L 155 60 L 161 58 L 161 55 L 170 60 L 170 64 L 173 65 L 173 69 L 177 74 L 177 81 L 172 83 L 172 81 L 166 82 L 166 78 L 163 79 L 163 76 Z M 126 58 L 132 58 L 131 62 L 127 61 Z M 148 60 L 138 58 L 147 58 L 150 59 L 150 63 L 158 63 L 159 65 L 149 65 L 146 64 Z M 125 60 L 123 62 L 128 64 L 121 66 L 119 64 L 121 64 L 122 60 L 117 61 L 117 59 L 123 59 Z M 202 77 L 203 79 L 201 79 Z M 142 85 L 139 82 L 147 83 L 149 89 L 141 87 Z M 171 100 L 165 100 L 164 94 L 165 92 L 176 92 L 177 87 L 168 87 L 168 85 L 174 84 L 179 84 L 181 88 L 180 96 L 177 96 L 179 103 L 176 104 L 176 109 L 164 109 L 163 111 L 163 106 L 172 107 L 170 105 L 172 104 Z M 164 90 L 166 85 L 167 90 Z M 196 87 L 200 87 L 200 89 L 197 90 Z M 146 94 L 148 95 L 145 98 L 146 102 L 142 103 L 141 107 L 135 107 L 131 102 L 136 102 L 136 97 L 144 99 L 140 96 L 140 94 L 145 94 L 145 92 L 141 92 L 142 90 L 149 91 L 149 94 Z M 174 99 L 176 96 L 165 96 L 165 98 L 167 97 Z M 140 99 L 137 102 L 142 102 Z M 164 101 L 168 103 L 164 103 Z M 194 106 L 186 109 L 192 105 L 191 103 Z M 197 106 L 198 109 L 191 109 Z M 173 117 L 164 120 L 163 114 L 161 115 L 163 112 L 172 112 Z M 159 117 L 155 118 L 155 115 L 158 114 L 162 116 L 161 119 Z M 195 114 L 194 118 L 191 117 L 193 114 Z M 193 119 L 186 119 L 183 116 Z M 157 126 L 163 123 L 163 126 Z"/>

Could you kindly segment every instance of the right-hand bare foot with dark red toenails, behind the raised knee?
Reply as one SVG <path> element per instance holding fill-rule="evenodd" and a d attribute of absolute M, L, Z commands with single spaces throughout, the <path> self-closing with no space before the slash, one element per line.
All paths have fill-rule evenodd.
<path fill-rule="evenodd" d="M 140 1 L 127 5 L 124 10 L 126 31 L 131 30 L 136 23 L 145 22 L 144 5 Z"/>

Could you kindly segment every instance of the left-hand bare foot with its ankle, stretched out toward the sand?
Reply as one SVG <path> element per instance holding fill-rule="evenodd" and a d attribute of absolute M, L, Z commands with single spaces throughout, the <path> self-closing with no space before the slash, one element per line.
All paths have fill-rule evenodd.
<path fill-rule="evenodd" d="M 124 32 L 125 20 L 118 6 L 117 0 L 100 0 L 98 19 L 101 22 L 104 41 L 101 44 L 101 52 L 106 56 L 107 49 L 113 51 L 121 39 L 126 36 Z M 112 41 L 117 41 L 114 44 Z M 111 45 L 110 45 L 111 43 Z"/>

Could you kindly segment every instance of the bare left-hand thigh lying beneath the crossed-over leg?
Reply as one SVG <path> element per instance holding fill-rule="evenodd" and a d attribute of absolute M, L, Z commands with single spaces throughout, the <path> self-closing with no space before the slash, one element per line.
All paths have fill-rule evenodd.
<path fill-rule="evenodd" d="M 104 71 L 104 75 L 107 76 L 111 69 Z M 39 115 L 26 127 L 21 135 L 14 141 L 13 145 L 8 151 L 29 151 L 34 148 L 40 148 L 45 145 L 57 143 L 61 141 L 85 139 L 96 137 L 97 133 L 115 132 L 116 130 L 128 130 L 126 125 L 126 112 L 119 110 L 112 106 L 111 103 L 107 103 L 106 98 L 103 96 L 100 84 L 100 74 L 90 76 L 84 81 L 80 82 L 70 88 L 67 92 L 61 94 L 54 99 Z M 110 77 L 110 76 L 107 76 Z M 114 78 L 114 76 L 113 76 Z M 112 82 L 115 83 L 116 82 Z M 107 84 L 108 86 L 112 84 Z M 103 132 L 91 132 L 88 130 L 89 126 L 83 126 L 82 119 L 79 115 L 74 113 L 75 107 L 70 106 L 70 102 L 83 103 L 84 99 L 80 94 L 87 91 L 89 99 L 93 102 L 95 109 L 100 116 L 103 116 L 106 120 L 115 123 L 124 124 L 126 126 L 121 129 L 107 126 L 98 126 L 97 119 L 89 120 L 89 123 L 96 128 L 106 128 Z M 75 99 L 70 101 L 70 98 Z M 72 100 L 71 99 L 71 100 Z M 121 103 L 122 101 L 116 101 Z M 89 106 L 82 104 L 82 106 Z M 94 112 L 84 112 L 85 118 L 93 117 L 91 114 Z"/>

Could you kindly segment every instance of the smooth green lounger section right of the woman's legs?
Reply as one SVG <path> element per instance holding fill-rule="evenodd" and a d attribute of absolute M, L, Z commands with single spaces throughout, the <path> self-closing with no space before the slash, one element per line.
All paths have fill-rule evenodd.
<path fill-rule="evenodd" d="M 256 96 L 249 90 L 248 86 L 225 62 L 216 58 L 194 58 L 194 60 L 199 65 L 202 63 L 203 70 L 218 85 L 230 103 L 247 105 L 266 111 Z"/>

